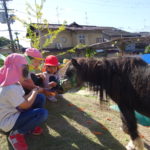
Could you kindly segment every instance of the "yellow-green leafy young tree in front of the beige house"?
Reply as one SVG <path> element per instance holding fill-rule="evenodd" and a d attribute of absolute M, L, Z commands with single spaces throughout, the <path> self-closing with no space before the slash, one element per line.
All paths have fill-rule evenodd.
<path fill-rule="evenodd" d="M 43 18 L 43 4 L 45 0 L 41 0 L 41 4 L 35 4 L 35 8 L 33 8 L 29 3 L 26 3 L 26 11 L 28 13 L 28 20 L 23 20 L 21 18 L 16 19 L 20 21 L 27 29 L 27 38 L 31 40 L 32 47 L 37 49 L 44 49 L 48 45 L 50 45 L 53 40 L 57 37 L 57 35 L 65 30 L 65 22 L 62 26 L 60 26 L 56 30 L 49 29 L 49 23 L 46 19 Z M 32 18 L 35 18 L 37 23 L 32 23 Z M 45 30 L 44 35 L 40 35 L 40 32 Z M 50 38 L 47 38 L 47 37 Z M 41 39 L 45 38 L 43 44 L 41 44 Z"/>

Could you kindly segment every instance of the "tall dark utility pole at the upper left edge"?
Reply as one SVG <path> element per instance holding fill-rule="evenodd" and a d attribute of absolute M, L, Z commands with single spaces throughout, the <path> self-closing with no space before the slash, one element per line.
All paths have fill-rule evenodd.
<path fill-rule="evenodd" d="M 11 49 L 12 49 L 12 52 L 15 52 L 14 43 L 13 43 L 13 36 L 12 36 L 11 26 L 10 26 L 10 20 L 9 20 L 9 17 L 8 17 L 8 9 L 7 9 L 7 5 L 6 5 L 6 0 L 2 0 L 2 1 L 3 1 L 4 10 L 5 10 L 5 16 L 6 16 L 8 31 L 9 31 Z"/>

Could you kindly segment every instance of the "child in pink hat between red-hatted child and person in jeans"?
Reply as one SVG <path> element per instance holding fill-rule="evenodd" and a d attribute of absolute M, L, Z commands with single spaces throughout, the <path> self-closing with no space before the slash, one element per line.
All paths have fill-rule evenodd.
<path fill-rule="evenodd" d="M 38 73 L 41 70 L 41 63 L 44 59 L 42 58 L 40 51 L 35 48 L 26 49 L 24 55 L 28 61 L 30 74 L 28 79 L 22 83 L 22 86 L 25 93 L 28 94 L 36 86 L 43 86 L 42 78 L 35 73 Z"/>

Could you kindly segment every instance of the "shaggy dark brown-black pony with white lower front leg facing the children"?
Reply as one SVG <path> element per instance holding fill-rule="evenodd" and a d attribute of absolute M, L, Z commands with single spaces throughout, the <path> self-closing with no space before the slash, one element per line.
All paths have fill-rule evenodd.
<path fill-rule="evenodd" d="M 123 130 L 131 137 L 128 150 L 144 150 L 138 134 L 134 111 L 150 117 L 150 67 L 140 57 L 72 59 L 60 74 L 72 88 L 88 83 L 101 94 L 103 90 L 117 103 Z"/>

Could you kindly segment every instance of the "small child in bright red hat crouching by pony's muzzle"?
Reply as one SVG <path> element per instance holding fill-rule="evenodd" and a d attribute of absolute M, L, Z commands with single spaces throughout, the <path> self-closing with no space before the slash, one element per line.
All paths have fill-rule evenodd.
<path fill-rule="evenodd" d="M 62 88 L 59 85 L 58 67 L 59 62 L 56 56 L 49 55 L 45 59 L 45 72 L 42 73 L 44 88 L 48 91 L 55 92 L 56 95 L 62 92 Z M 47 96 L 48 100 L 57 102 L 55 96 Z"/>

